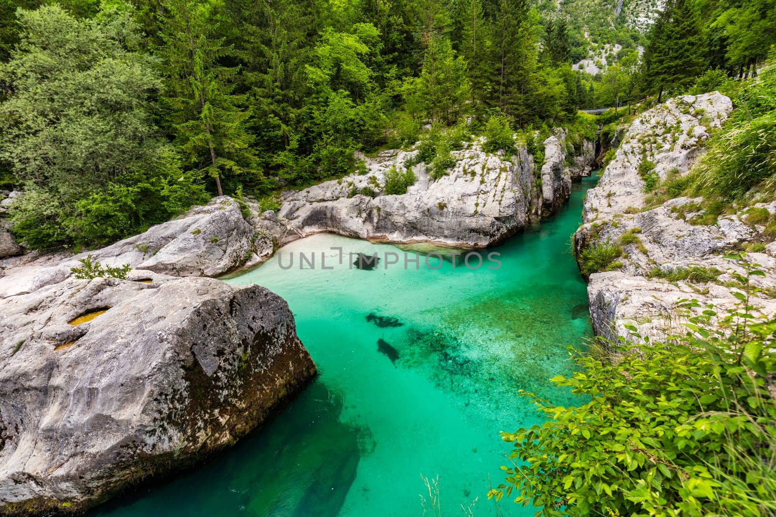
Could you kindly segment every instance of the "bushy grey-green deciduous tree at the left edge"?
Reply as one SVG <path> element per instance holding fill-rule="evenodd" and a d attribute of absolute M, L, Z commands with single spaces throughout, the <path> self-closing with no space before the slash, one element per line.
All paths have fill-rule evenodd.
<path fill-rule="evenodd" d="M 156 135 L 148 108 L 161 81 L 131 14 L 19 11 L 0 156 L 23 184 L 10 217 L 27 246 L 106 244 L 206 200 L 199 174 Z"/>

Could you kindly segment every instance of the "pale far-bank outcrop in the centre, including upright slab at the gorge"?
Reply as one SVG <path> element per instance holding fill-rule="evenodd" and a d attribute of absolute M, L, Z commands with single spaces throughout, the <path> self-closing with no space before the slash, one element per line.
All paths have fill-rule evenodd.
<path fill-rule="evenodd" d="M 383 151 L 365 157 L 365 174 L 286 192 L 277 214 L 279 226 L 263 219 L 275 228 L 270 233 L 281 245 L 331 232 L 391 243 L 492 246 L 524 228 L 533 216 L 555 212 L 569 198 L 572 176 L 589 174 L 592 143 L 583 143 L 583 154 L 573 162 L 565 139 L 566 132 L 558 130 L 546 140 L 541 171 L 535 171 L 525 146 L 508 157 L 485 152 L 482 140 L 475 140 L 452 152 L 456 164 L 438 179 L 431 178 L 427 164 L 416 163 L 417 150 Z M 414 164 L 415 184 L 406 194 L 386 195 L 386 175 L 392 167 L 404 171 L 406 164 Z"/>

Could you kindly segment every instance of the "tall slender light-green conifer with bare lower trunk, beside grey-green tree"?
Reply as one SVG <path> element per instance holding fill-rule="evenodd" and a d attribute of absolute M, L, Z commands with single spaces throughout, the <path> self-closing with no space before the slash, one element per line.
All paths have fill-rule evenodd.
<path fill-rule="evenodd" d="M 165 59 L 165 102 L 169 105 L 178 145 L 192 164 L 215 179 L 223 195 L 221 178 L 246 175 L 258 181 L 252 136 L 245 128 L 249 112 L 241 109 L 244 95 L 234 95 L 237 67 L 220 63 L 232 47 L 217 38 L 218 24 L 210 6 L 196 0 L 163 2 L 159 53 Z"/>

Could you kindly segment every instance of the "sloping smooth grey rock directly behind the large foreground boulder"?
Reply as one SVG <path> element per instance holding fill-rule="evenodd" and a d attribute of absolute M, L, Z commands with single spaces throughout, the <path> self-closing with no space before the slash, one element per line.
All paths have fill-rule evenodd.
<path fill-rule="evenodd" d="M 240 267 L 251 255 L 254 229 L 245 221 L 240 206 L 223 196 L 197 206 L 146 232 L 100 250 L 71 257 L 19 258 L 0 266 L 8 268 L 0 277 L 0 298 L 33 292 L 71 277 L 71 267 L 92 255 L 110 266 L 130 264 L 138 269 L 175 276 L 215 277 Z"/>

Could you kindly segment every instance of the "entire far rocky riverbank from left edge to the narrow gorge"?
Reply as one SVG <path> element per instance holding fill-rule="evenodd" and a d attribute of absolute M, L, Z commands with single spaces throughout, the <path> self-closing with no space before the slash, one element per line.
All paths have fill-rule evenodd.
<path fill-rule="evenodd" d="M 0 257 L 0 298 L 64 281 L 89 254 L 111 266 L 217 277 L 260 264 L 279 246 L 321 232 L 375 242 L 494 246 L 532 219 L 556 212 L 569 198 L 572 181 L 594 167 L 594 143 L 583 140 L 575 148 L 564 129 L 556 129 L 543 146 L 545 158 L 537 167 L 525 145 L 505 156 L 486 153 L 482 140 L 474 140 L 452 151 L 456 164 L 438 179 L 431 178 L 428 164 L 417 163 L 417 150 L 383 151 L 363 157 L 365 171 L 284 192 L 278 212 L 261 212 L 251 200 L 241 208 L 222 196 L 145 233 L 78 255 L 19 256 L 13 242 L 13 252 Z M 387 195 L 386 174 L 408 164 L 415 183 L 405 194 Z M 12 240 L 0 233 L 0 242 L 3 235 Z"/>

